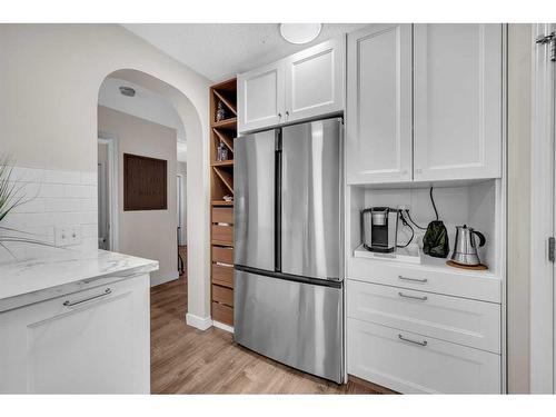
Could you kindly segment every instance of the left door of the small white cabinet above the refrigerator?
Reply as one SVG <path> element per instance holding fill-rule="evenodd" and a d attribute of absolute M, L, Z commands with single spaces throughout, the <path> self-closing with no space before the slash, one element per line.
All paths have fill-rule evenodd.
<path fill-rule="evenodd" d="M 262 129 L 285 120 L 284 61 L 238 76 L 238 130 Z"/>

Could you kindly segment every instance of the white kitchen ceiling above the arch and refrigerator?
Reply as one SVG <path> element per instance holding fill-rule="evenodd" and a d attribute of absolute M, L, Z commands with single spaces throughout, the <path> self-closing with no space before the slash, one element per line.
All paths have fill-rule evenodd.
<path fill-rule="evenodd" d="M 278 23 L 130 23 L 125 28 L 212 81 L 272 62 L 365 24 L 324 23 L 316 40 L 292 44 Z"/>

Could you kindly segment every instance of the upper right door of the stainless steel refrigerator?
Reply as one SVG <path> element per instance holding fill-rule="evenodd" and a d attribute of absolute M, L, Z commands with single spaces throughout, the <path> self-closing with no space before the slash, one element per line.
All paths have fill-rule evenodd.
<path fill-rule="evenodd" d="M 281 271 L 340 279 L 341 119 L 282 128 Z"/>

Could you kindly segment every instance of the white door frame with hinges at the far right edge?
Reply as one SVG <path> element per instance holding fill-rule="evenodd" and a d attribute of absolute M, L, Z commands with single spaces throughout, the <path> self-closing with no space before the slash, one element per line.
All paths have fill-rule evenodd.
<path fill-rule="evenodd" d="M 548 238 L 555 236 L 555 73 L 548 47 L 535 44 L 538 34 L 556 24 L 535 23 L 533 34 L 532 171 L 530 171 L 530 393 L 555 393 L 555 264 L 548 260 Z M 543 179 L 543 180 L 539 180 Z M 526 335 L 524 335 L 526 337 Z"/>

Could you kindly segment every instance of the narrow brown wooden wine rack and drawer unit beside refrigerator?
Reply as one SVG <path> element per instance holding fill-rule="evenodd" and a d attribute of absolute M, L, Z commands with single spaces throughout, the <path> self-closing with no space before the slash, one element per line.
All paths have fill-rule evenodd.
<path fill-rule="evenodd" d="M 234 326 L 234 139 L 237 136 L 237 81 L 210 88 L 210 282 L 212 320 Z M 218 119 L 218 108 L 225 117 Z M 224 143 L 228 159 L 218 160 Z"/>

